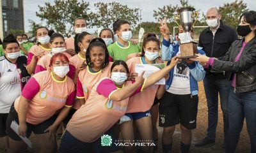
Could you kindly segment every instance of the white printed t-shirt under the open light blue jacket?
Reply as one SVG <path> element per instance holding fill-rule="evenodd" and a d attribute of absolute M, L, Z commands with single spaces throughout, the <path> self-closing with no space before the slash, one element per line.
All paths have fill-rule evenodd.
<path fill-rule="evenodd" d="M 180 50 L 176 55 L 180 55 Z M 189 73 L 187 62 L 178 62 L 174 67 L 173 80 L 168 92 L 172 94 L 191 94 Z"/>

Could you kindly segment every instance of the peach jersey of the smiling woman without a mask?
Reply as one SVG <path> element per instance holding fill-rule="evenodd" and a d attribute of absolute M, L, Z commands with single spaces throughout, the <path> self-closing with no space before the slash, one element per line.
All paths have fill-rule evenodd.
<path fill-rule="evenodd" d="M 76 97 L 78 99 L 85 99 L 85 101 L 88 99 L 88 96 L 92 90 L 93 85 L 95 85 L 101 78 L 104 77 L 110 77 L 110 68 L 112 66 L 113 62 L 109 62 L 108 66 L 104 68 L 104 70 L 100 70 L 96 73 L 92 73 L 89 70 L 89 67 L 87 66 L 86 69 L 83 69 L 79 72 L 78 78 L 77 78 L 77 92 Z M 73 108 L 76 110 L 80 108 L 81 103 L 78 103 L 79 101 L 76 101 L 74 103 Z"/>

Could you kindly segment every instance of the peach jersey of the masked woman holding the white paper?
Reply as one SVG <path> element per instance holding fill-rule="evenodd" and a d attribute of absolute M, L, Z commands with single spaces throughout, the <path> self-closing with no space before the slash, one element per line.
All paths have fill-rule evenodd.
<path fill-rule="evenodd" d="M 160 59 L 157 59 L 156 62 L 163 63 Z M 133 57 L 126 61 L 126 63 L 130 73 L 135 71 L 135 64 L 143 64 L 141 57 Z M 146 112 L 150 110 L 154 103 L 158 87 L 159 85 L 151 85 L 144 89 L 143 92 L 132 96 L 129 99 L 127 113 Z"/>

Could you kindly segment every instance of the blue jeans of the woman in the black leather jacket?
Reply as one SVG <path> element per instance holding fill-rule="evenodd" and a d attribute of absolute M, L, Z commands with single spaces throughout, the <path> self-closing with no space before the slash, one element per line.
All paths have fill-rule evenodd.
<path fill-rule="evenodd" d="M 227 152 L 236 150 L 239 135 L 243 129 L 244 117 L 246 119 L 247 131 L 250 136 L 251 152 L 256 152 L 256 90 L 250 92 L 235 93 L 234 88 L 229 94 L 229 129 Z"/>

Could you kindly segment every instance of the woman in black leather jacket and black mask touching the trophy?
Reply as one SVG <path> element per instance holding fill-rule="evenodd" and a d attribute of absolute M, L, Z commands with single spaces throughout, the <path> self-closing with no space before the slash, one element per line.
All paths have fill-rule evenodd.
<path fill-rule="evenodd" d="M 229 129 L 227 152 L 235 152 L 244 117 L 251 141 L 251 152 L 256 152 L 256 11 L 240 17 L 237 33 L 244 38 L 232 43 L 224 61 L 198 54 L 191 59 L 227 71 L 232 88 L 228 98 Z"/>

